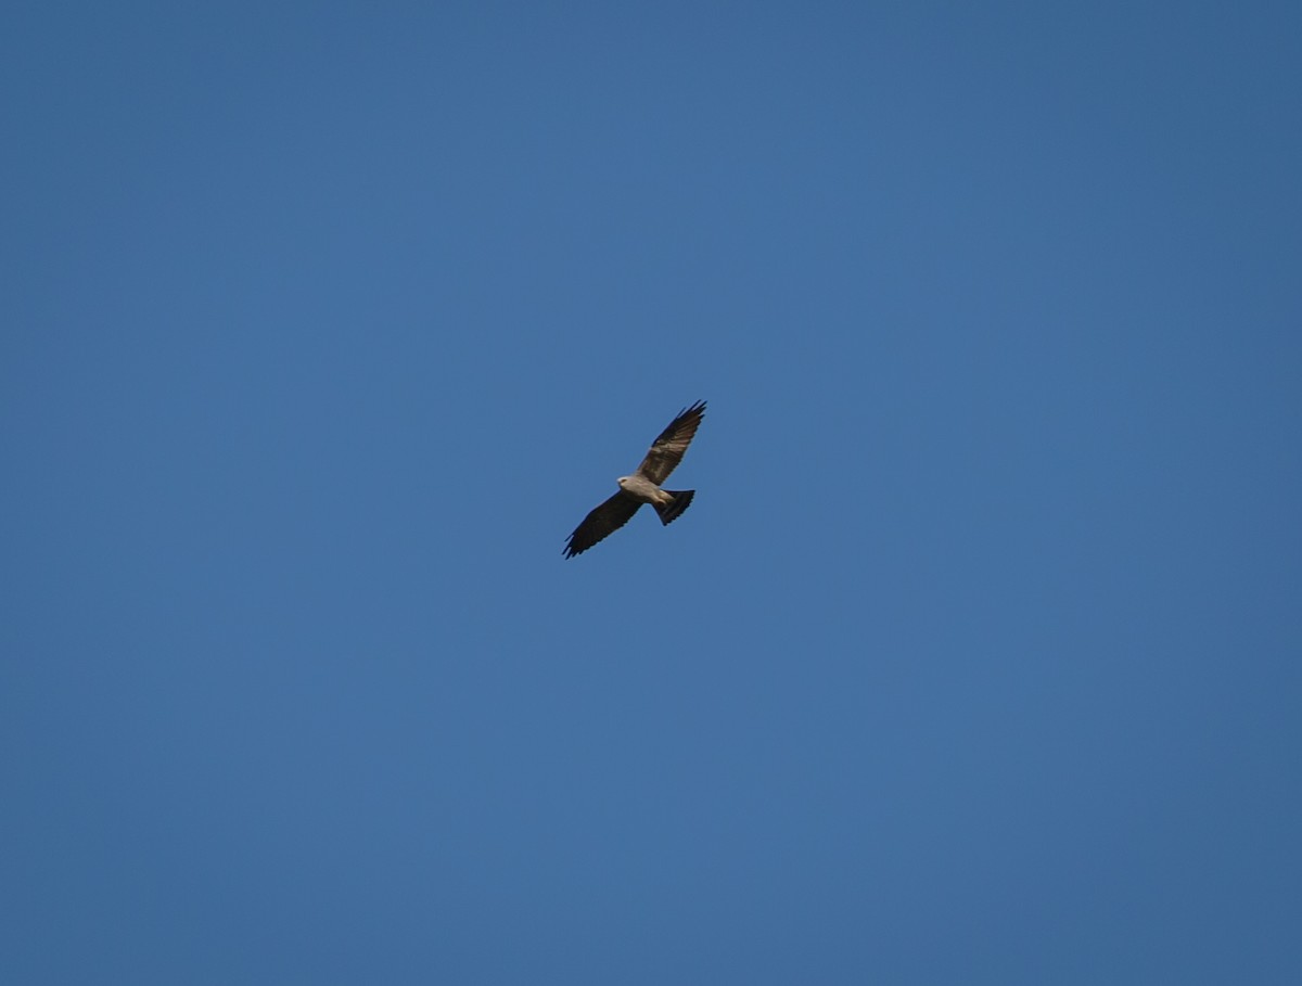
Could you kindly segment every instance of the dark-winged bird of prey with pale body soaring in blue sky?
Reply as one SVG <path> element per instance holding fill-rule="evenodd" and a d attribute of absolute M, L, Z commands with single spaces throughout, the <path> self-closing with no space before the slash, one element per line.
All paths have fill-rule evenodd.
<path fill-rule="evenodd" d="M 704 416 L 706 402 L 697 401 L 669 421 L 669 427 L 651 442 L 651 450 L 642 459 L 638 471 L 631 476 L 620 476 L 616 480 L 620 484 L 620 492 L 595 507 L 583 518 L 583 523 L 574 528 L 574 533 L 565 540 L 566 558 L 582 554 L 607 535 L 618 531 L 629 523 L 629 518 L 638 513 L 638 507 L 643 503 L 655 507 L 661 524 L 672 523 L 687 509 L 697 490 L 660 489 L 660 484 L 669 479 L 674 466 L 682 462 L 682 455 L 691 444 L 691 436 L 697 433 L 700 419 Z"/>

